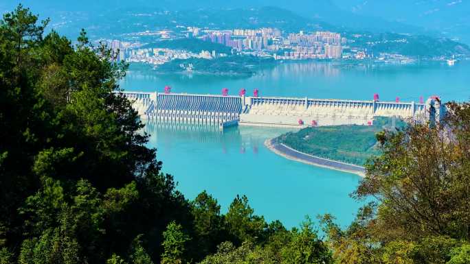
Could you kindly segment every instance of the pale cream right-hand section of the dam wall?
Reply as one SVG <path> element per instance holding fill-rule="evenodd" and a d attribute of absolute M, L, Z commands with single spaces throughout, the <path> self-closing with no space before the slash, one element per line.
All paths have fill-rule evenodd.
<path fill-rule="evenodd" d="M 285 97 L 251 97 L 239 125 L 370 125 L 374 117 L 423 121 L 425 104 Z"/>

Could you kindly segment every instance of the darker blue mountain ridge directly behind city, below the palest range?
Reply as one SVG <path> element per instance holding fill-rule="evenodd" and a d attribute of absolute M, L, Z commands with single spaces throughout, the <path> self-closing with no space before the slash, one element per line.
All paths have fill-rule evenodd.
<path fill-rule="evenodd" d="M 32 10 L 37 12 L 35 8 Z M 93 12 L 57 11 L 46 16 L 51 17 L 52 28 L 70 38 L 76 38 L 81 28 L 85 28 L 91 38 L 116 38 L 132 32 L 152 31 L 165 27 L 175 29 L 177 25 L 211 29 L 277 27 L 287 32 L 336 29 L 335 26 L 318 19 L 305 18 L 290 10 L 272 6 L 249 9 L 167 10 L 163 6 L 115 5 L 113 8 L 110 6 L 108 9 L 97 9 Z M 41 18 L 45 16 L 41 14 Z"/>

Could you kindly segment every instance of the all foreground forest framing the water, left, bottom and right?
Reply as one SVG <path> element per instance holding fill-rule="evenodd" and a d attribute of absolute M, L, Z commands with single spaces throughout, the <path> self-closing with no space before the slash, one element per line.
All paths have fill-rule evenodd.
<path fill-rule="evenodd" d="M 48 22 L 21 5 L 0 21 L 0 264 L 469 263 L 469 104 L 377 134 L 353 193 L 374 202 L 348 228 L 287 230 L 245 196 L 221 214 L 179 193 L 119 93 L 127 65 Z"/>

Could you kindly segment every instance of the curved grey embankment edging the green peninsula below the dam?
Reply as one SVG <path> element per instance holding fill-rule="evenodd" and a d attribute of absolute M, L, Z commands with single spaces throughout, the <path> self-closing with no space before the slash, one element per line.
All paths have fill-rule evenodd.
<path fill-rule="evenodd" d="M 288 158 L 289 160 L 295 160 L 301 163 L 306 163 L 306 164 L 314 165 L 318 167 L 324 167 L 327 169 L 335 169 L 337 171 L 356 173 L 361 177 L 365 176 L 364 167 L 305 154 L 291 147 L 288 147 L 287 145 L 278 143 L 276 139 L 267 139 L 265 141 L 265 145 L 268 149 L 271 149 L 272 152 L 280 156 L 283 156 L 284 158 Z"/>

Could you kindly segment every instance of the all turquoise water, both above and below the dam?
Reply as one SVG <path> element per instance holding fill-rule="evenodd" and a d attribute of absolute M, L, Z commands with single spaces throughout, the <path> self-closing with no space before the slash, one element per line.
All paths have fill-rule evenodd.
<path fill-rule="evenodd" d="M 420 96 L 440 95 L 463 101 L 470 97 L 470 62 L 454 67 L 441 62 L 355 67 L 300 62 L 263 69 L 252 77 L 161 75 L 131 67 L 121 82 L 126 91 L 162 92 L 165 85 L 174 93 L 221 93 L 227 87 L 237 94 L 244 87 L 249 93 L 259 88 L 266 96 L 372 99 L 379 93 L 382 100 L 418 101 Z M 224 212 L 240 194 L 247 195 L 256 214 L 268 221 L 280 219 L 289 228 L 298 226 L 305 215 L 324 213 L 346 226 L 361 206 L 349 196 L 359 176 L 287 160 L 263 145 L 289 130 L 238 127 L 219 133 L 147 124 L 146 131 L 164 172 L 179 182 L 178 189 L 189 199 L 206 190 Z"/>

